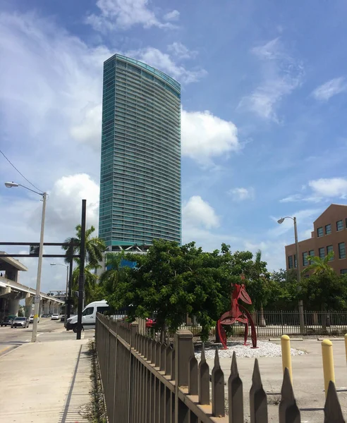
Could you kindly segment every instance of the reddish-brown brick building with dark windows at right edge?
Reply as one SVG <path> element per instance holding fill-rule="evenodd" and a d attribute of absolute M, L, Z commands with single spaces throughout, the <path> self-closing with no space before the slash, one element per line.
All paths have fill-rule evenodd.
<path fill-rule="evenodd" d="M 347 204 L 330 206 L 313 222 L 311 238 L 299 242 L 299 269 L 308 266 L 308 256 L 324 258 L 334 251 L 330 265 L 336 274 L 347 274 Z M 286 245 L 286 269 L 296 269 L 296 245 Z"/>

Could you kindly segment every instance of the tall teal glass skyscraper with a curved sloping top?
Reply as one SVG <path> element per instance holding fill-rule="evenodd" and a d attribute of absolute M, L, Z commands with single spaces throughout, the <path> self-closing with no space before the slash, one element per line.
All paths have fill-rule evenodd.
<path fill-rule="evenodd" d="M 181 243 L 181 85 L 119 54 L 104 62 L 99 236 Z"/>

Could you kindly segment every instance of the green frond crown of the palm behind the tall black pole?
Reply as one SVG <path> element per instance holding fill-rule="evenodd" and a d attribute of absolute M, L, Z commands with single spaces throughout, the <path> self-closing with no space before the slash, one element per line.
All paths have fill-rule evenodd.
<path fill-rule="evenodd" d="M 63 245 L 63 250 L 66 251 L 65 261 L 69 262 L 69 256 L 72 254 L 80 254 L 80 238 L 82 228 L 80 225 L 76 226 L 76 236 L 71 238 L 66 238 L 66 243 L 71 243 L 71 241 L 77 241 L 78 245 L 71 247 L 70 245 Z M 90 265 L 91 269 L 97 269 L 99 262 L 102 262 L 103 253 L 106 250 L 106 244 L 104 240 L 98 236 L 91 237 L 92 233 L 95 231 L 94 226 L 90 226 L 89 229 L 85 231 L 85 262 Z M 75 259 L 75 262 L 78 262 L 78 259 Z"/>

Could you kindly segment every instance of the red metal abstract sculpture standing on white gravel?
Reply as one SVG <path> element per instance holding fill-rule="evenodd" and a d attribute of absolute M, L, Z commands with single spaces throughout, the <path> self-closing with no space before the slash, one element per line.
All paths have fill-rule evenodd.
<path fill-rule="evenodd" d="M 241 277 L 242 278 L 242 277 Z M 250 312 L 248 309 L 243 307 L 243 305 L 238 303 L 238 300 L 243 300 L 246 304 L 252 304 L 252 300 L 250 300 L 250 296 L 245 290 L 245 286 L 238 285 L 236 283 L 233 288 L 233 294 L 231 295 L 231 310 L 222 314 L 219 321 L 217 321 L 217 331 L 219 335 L 219 339 L 223 345 L 223 349 L 227 350 L 228 347 L 226 346 L 226 333 L 223 329 L 224 324 L 234 324 L 236 321 L 245 324 L 245 343 L 247 345 L 247 337 L 248 337 L 248 325 L 250 324 L 251 335 L 252 338 L 252 347 L 257 348 L 257 332 L 255 331 L 255 324 L 252 320 Z"/>

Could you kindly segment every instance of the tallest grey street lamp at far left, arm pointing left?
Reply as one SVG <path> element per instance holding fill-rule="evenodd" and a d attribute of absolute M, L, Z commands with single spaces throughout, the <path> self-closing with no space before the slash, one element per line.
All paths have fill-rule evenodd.
<path fill-rule="evenodd" d="M 15 182 L 5 182 L 6 188 L 18 188 L 23 187 L 26 190 L 35 192 L 35 194 L 41 195 L 42 197 L 42 219 L 41 219 L 41 233 L 39 237 L 39 262 L 37 264 L 37 280 L 36 280 L 36 295 L 35 295 L 35 308 L 34 308 L 34 321 L 32 325 L 32 336 L 31 342 L 36 342 L 37 338 L 37 318 L 39 317 L 39 300 L 41 299 L 41 272 L 42 272 L 42 254 L 43 254 L 43 244 L 44 244 L 44 214 L 46 212 L 46 200 L 47 192 L 38 192 L 34 191 L 31 188 L 20 185 L 20 183 Z"/>

